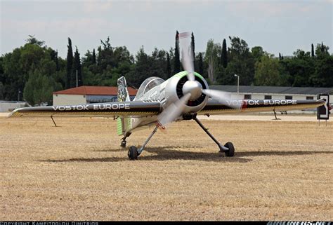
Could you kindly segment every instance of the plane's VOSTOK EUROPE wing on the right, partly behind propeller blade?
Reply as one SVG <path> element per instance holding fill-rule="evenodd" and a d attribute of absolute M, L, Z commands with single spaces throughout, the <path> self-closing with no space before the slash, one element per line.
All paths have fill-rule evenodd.
<path fill-rule="evenodd" d="M 240 109 L 235 109 L 242 103 Z M 198 114 L 235 114 L 244 112 L 261 112 L 261 111 L 290 111 L 301 109 L 314 109 L 325 104 L 324 100 L 235 100 L 228 104 L 221 104 L 216 100 L 209 100 Z"/>

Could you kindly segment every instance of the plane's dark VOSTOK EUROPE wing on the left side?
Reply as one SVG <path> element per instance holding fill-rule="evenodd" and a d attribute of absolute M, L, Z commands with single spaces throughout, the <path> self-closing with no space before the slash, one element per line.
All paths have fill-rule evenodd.
<path fill-rule="evenodd" d="M 11 116 L 153 116 L 162 111 L 160 102 L 131 101 L 15 109 Z"/>

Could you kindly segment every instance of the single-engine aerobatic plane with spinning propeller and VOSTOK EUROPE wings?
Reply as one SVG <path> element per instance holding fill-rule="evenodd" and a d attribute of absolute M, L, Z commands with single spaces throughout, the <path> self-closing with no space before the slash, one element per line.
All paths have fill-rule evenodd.
<path fill-rule="evenodd" d="M 260 111 L 288 111 L 313 109 L 325 104 L 324 100 L 234 100 L 230 93 L 210 90 L 207 81 L 194 71 L 190 50 L 190 33 L 179 34 L 182 49 L 182 64 L 185 71 L 164 81 L 150 77 L 143 81 L 133 101 L 129 99 L 126 80 L 118 79 L 118 102 L 79 104 L 15 109 L 9 116 L 102 116 L 117 117 L 117 133 L 122 136 L 121 146 L 126 147 L 126 138 L 138 128 L 155 125 L 142 146 L 130 146 L 129 159 L 137 159 L 158 128 L 181 120 L 195 120 L 218 145 L 226 156 L 234 156 L 231 142 L 222 145 L 211 135 L 197 115 L 235 114 Z"/>

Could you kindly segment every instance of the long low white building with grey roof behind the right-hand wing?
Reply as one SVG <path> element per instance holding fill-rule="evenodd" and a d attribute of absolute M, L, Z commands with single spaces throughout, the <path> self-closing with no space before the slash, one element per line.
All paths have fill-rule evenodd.
<path fill-rule="evenodd" d="M 316 100 L 318 94 L 329 94 L 333 102 L 333 88 L 296 88 L 296 87 L 271 87 L 271 86 L 209 86 L 210 89 L 223 90 L 232 93 L 235 99 L 247 100 Z"/>

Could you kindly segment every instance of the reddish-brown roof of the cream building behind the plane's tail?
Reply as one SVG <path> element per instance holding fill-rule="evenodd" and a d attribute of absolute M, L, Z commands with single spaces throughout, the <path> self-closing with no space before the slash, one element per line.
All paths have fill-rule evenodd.
<path fill-rule="evenodd" d="M 134 96 L 138 90 L 128 87 L 129 95 Z M 66 90 L 59 90 L 53 92 L 53 95 L 117 95 L 118 87 L 104 87 L 104 86 L 79 86 L 77 88 L 70 88 Z"/>

